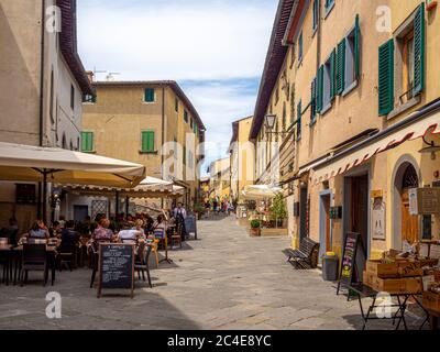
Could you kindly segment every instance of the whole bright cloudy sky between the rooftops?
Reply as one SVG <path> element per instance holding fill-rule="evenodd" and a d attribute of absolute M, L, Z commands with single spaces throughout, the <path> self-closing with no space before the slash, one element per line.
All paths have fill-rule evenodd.
<path fill-rule="evenodd" d="M 224 157 L 231 122 L 254 111 L 278 1 L 77 1 L 85 67 L 177 80 L 207 127 L 207 164 Z"/>

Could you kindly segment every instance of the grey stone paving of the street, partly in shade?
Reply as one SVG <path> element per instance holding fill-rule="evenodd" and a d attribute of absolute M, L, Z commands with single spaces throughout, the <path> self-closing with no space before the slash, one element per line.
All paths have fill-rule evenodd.
<path fill-rule="evenodd" d="M 173 264 L 152 270 L 154 287 L 136 280 L 134 299 L 96 297 L 89 270 L 57 273 L 43 287 L 0 286 L 0 329 L 360 329 L 356 300 L 336 295 L 320 272 L 295 271 L 282 250 L 289 239 L 250 238 L 233 217 L 199 222 L 199 240 L 170 251 Z M 63 297 L 62 319 L 45 315 L 48 292 Z M 408 314 L 413 328 L 420 318 Z M 392 329 L 389 321 L 373 329 Z"/>

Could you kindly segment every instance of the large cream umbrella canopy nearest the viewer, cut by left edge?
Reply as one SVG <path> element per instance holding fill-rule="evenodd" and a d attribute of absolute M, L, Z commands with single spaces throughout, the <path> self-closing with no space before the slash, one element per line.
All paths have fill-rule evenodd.
<path fill-rule="evenodd" d="M 135 187 L 145 166 L 94 154 L 0 142 L 0 179 Z"/>

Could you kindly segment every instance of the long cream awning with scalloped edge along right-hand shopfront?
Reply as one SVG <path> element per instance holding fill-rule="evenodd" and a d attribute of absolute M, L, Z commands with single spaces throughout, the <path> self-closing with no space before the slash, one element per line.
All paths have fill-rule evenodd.
<path fill-rule="evenodd" d="M 392 128 L 391 128 L 392 129 Z M 334 176 L 346 173 L 351 168 L 367 162 L 374 155 L 385 152 L 392 147 L 395 147 L 404 142 L 414 141 L 425 136 L 427 133 L 432 134 L 440 133 L 440 113 L 437 112 L 426 118 L 420 118 L 411 124 L 408 124 L 395 132 L 389 134 L 380 133 L 377 136 L 373 136 L 371 142 L 361 146 L 359 150 L 353 147 L 353 152 L 341 155 L 331 156 L 329 160 L 319 163 L 315 167 L 314 180 L 315 183 L 321 183 Z"/>

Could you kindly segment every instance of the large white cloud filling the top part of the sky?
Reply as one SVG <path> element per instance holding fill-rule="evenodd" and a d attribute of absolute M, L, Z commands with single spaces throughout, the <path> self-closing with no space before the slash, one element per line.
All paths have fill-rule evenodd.
<path fill-rule="evenodd" d="M 79 0 L 79 52 L 119 79 L 224 79 L 263 69 L 276 1 Z"/>

